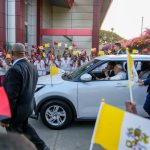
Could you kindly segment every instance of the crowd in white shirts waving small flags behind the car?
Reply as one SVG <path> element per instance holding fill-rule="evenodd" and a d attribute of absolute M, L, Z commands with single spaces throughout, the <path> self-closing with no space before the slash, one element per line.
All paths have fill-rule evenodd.
<path fill-rule="evenodd" d="M 148 54 L 149 51 L 143 50 L 142 54 Z M 104 51 L 104 55 L 110 54 L 124 54 L 125 50 L 122 50 L 121 44 L 116 43 L 113 50 Z M 89 60 L 96 57 L 96 52 L 91 51 L 91 55 L 88 56 L 86 50 L 82 50 L 74 53 L 73 50 L 66 48 L 63 53 L 60 50 L 52 48 L 51 50 L 37 50 L 32 49 L 30 53 L 27 52 L 28 61 L 33 63 L 38 70 L 39 76 L 48 75 L 50 73 L 50 66 L 55 65 L 56 67 L 63 69 L 64 71 L 71 72 L 76 68 L 86 64 Z M 9 53 L 0 51 L 0 85 L 3 82 L 4 76 L 8 69 L 13 65 L 13 56 Z"/>

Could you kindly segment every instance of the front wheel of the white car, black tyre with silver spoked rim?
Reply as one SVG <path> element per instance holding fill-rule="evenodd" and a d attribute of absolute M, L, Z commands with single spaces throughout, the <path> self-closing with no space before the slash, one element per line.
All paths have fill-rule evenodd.
<path fill-rule="evenodd" d="M 41 108 L 41 119 L 43 123 L 55 130 L 63 129 L 72 121 L 72 111 L 69 105 L 59 100 L 45 103 Z"/>

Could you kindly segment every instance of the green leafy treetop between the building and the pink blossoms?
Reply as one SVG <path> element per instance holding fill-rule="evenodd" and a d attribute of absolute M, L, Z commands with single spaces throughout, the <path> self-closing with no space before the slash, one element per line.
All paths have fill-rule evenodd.
<path fill-rule="evenodd" d="M 112 31 L 100 30 L 99 34 L 100 34 L 100 39 L 99 39 L 100 45 L 112 43 L 112 42 L 114 43 L 124 39 Z"/>

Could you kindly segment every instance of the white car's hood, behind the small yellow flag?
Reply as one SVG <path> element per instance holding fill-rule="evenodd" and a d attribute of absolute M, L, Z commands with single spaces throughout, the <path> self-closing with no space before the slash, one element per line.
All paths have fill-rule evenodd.
<path fill-rule="evenodd" d="M 50 75 L 46 75 L 46 76 L 42 76 L 38 78 L 38 85 L 39 84 L 60 84 L 62 82 L 64 82 L 64 80 L 62 79 L 62 74 L 64 73 L 64 71 L 60 71 L 57 75 L 54 76 L 50 76 Z"/>

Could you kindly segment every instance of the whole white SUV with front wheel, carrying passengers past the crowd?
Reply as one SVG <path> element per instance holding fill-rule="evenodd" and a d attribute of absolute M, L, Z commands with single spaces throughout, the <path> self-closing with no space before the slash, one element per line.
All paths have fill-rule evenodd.
<path fill-rule="evenodd" d="M 149 55 L 133 55 L 138 72 L 143 62 L 150 63 Z M 101 99 L 121 109 L 129 100 L 128 80 L 96 80 L 108 62 L 120 63 L 127 68 L 126 55 L 97 57 L 72 73 L 61 73 L 51 77 L 43 76 L 38 80 L 35 92 L 36 116 L 40 113 L 43 123 L 52 129 L 62 129 L 73 120 L 95 119 Z M 51 83 L 52 81 L 52 83 Z M 133 82 L 133 98 L 138 113 L 145 116 L 143 104 L 146 88 Z"/>

